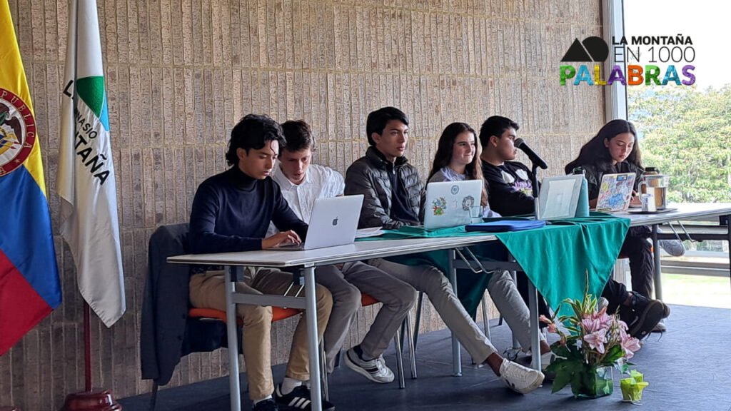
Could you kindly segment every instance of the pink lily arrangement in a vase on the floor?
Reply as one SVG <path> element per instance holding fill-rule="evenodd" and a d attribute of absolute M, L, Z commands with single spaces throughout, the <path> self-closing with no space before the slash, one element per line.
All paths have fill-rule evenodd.
<path fill-rule="evenodd" d="M 581 301 L 567 299 L 564 303 L 571 306 L 572 315 L 540 317 L 548 324 L 549 333 L 561 337 L 551 345 L 555 358 L 547 371 L 556 375 L 551 392 L 560 391 L 570 382 L 575 396 L 609 395 L 613 391 L 612 367 L 627 372 L 626 360 L 640 350 L 640 341 L 629 336 L 618 314 L 607 314 L 606 306 L 599 307 L 593 295 L 585 293 Z"/>

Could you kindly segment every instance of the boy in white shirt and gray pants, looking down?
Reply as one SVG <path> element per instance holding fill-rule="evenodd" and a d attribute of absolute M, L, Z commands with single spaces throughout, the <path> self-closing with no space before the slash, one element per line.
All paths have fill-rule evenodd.
<path fill-rule="evenodd" d="M 330 167 L 310 164 L 315 144 L 305 121 L 287 121 L 281 127 L 287 144 L 279 151 L 279 166 L 274 167 L 272 178 L 279 184 L 289 208 L 309 222 L 314 201 L 343 195 L 344 179 Z M 273 230 L 270 226 L 270 233 Z M 414 305 L 416 290 L 385 271 L 360 262 L 318 267 L 315 278 L 333 295 L 333 311 L 323 336 L 327 372 L 333 372 L 363 292 L 383 306 L 363 341 L 345 353 L 344 362 L 368 380 L 392 382 L 393 372 L 386 366 L 382 353 Z"/>

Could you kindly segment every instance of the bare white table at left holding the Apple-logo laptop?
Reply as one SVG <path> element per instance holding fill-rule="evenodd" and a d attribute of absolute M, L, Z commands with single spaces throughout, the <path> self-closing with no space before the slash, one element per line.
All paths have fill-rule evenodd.
<path fill-rule="evenodd" d="M 236 331 L 236 304 L 258 304 L 265 306 L 287 306 L 304 309 L 307 318 L 307 336 L 310 361 L 311 401 L 314 411 L 322 411 L 322 393 L 319 385 L 320 358 L 317 348 L 317 314 L 315 305 L 315 267 L 370 260 L 371 258 L 454 249 L 471 244 L 496 241 L 494 235 L 476 235 L 458 238 L 414 238 L 404 240 L 362 241 L 347 246 L 336 246 L 308 251 L 257 251 L 226 252 L 218 254 L 186 254 L 170 257 L 168 263 L 225 265 L 226 269 L 226 325 L 229 346 L 229 387 L 231 410 L 241 410 L 241 396 L 238 380 L 238 347 Z M 252 295 L 236 293 L 232 274 L 240 273 L 243 267 L 258 266 L 270 268 L 303 267 L 306 298 L 282 295 Z M 236 276 L 238 278 L 238 275 Z M 454 270 L 450 275 L 454 287 Z M 458 350 L 458 345 L 456 346 Z"/>

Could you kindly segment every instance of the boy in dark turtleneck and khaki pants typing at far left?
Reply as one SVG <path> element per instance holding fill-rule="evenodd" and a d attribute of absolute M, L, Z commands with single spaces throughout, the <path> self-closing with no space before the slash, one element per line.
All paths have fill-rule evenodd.
<path fill-rule="evenodd" d="M 195 193 L 190 215 L 191 252 L 242 252 L 270 249 L 295 242 L 307 234 L 307 225 L 289 209 L 279 186 L 270 178 L 280 146 L 285 143 L 281 127 L 268 116 L 249 114 L 231 131 L 226 160 L 229 170 L 203 181 Z M 280 233 L 266 237 L 269 223 Z M 247 280 L 236 283 L 239 293 L 286 293 L 292 274 L 267 268 L 249 268 Z M 192 272 L 190 301 L 197 308 L 224 311 L 224 272 L 204 267 Z M 317 285 L 317 333 L 327 327 L 332 296 Z M 300 318 L 289 352 L 284 382 L 275 387 L 271 372 L 270 306 L 238 304 L 243 320 L 243 357 L 254 411 L 311 410 L 308 344 L 305 317 Z M 275 399 L 272 396 L 275 396 Z M 231 395 L 238 395 L 232 393 Z M 322 401 L 322 410 L 335 410 Z"/>

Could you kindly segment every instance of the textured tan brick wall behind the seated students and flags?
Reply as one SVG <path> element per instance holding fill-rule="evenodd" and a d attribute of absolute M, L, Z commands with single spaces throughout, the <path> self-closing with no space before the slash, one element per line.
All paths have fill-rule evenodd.
<path fill-rule="evenodd" d="M 127 313 L 92 321 L 95 386 L 118 397 L 140 380 L 140 307 L 147 242 L 184 222 L 197 184 L 224 170 L 227 135 L 246 113 L 304 118 L 317 162 L 344 172 L 366 150 L 366 114 L 396 105 L 412 119 L 407 155 L 426 173 L 452 121 L 478 128 L 491 114 L 518 121 L 551 165 L 577 152 L 604 121 L 601 88 L 558 86 L 575 37 L 601 33 L 599 0 L 105 0 L 98 1 L 107 70 Z M 35 105 L 50 209 L 67 42 L 67 0 L 10 0 Z M 56 237 L 63 305 L 0 358 L 0 404 L 58 409 L 83 388 L 82 300 Z M 100 268 L 103 269 L 103 268 Z M 428 304 L 427 304 L 428 306 Z M 372 321 L 364 309 L 352 342 Z M 431 307 L 423 331 L 442 327 Z M 273 331 L 286 361 L 292 321 Z M 173 385 L 225 375 L 224 350 L 189 355 Z M 445 373 L 447 373 L 445 369 Z"/>

